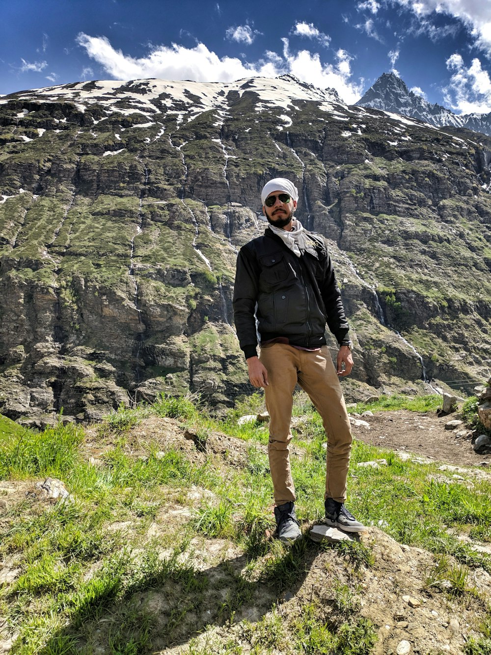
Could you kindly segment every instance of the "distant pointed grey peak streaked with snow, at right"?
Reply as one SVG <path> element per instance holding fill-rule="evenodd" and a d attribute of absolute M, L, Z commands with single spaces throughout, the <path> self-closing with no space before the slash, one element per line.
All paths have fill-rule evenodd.
<path fill-rule="evenodd" d="M 357 103 L 361 107 L 373 107 L 382 111 L 410 116 L 437 127 L 467 128 L 491 136 L 491 113 L 456 115 L 437 103 L 432 104 L 416 95 L 394 73 L 380 75 Z"/>

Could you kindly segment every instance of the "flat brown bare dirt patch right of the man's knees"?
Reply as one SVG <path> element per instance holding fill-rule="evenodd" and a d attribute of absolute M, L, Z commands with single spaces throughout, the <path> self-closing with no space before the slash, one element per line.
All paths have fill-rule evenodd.
<path fill-rule="evenodd" d="M 407 451 L 456 466 L 491 466 L 491 454 L 479 455 L 470 438 L 456 438 L 459 430 L 445 430 L 445 424 L 457 415 L 438 417 L 436 413 L 420 413 L 398 409 L 382 411 L 373 417 L 361 417 L 370 429 L 354 427 L 356 439 L 393 451 Z M 465 428 L 465 426 L 462 426 Z"/>

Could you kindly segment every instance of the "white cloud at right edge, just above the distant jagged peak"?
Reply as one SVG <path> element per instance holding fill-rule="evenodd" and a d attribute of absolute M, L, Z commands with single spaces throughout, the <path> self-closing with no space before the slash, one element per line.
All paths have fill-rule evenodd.
<path fill-rule="evenodd" d="M 488 71 L 482 69 L 475 58 L 466 68 L 460 54 L 452 54 L 446 60 L 446 67 L 452 71 L 450 83 L 443 89 L 444 100 L 451 109 L 462 113 L 489 113 L 491 111 L 491 79 Z"/>

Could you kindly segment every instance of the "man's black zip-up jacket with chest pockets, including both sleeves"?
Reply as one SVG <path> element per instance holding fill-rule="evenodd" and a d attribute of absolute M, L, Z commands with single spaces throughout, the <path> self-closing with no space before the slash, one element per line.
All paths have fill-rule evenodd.
<path fill-rule="evenodd" d="M 341 343 L 349 325 L 323 238 L 304 231 L 308 246 L 297 257 L 270 229 L 240 250 L 234 320 L 245 357 L 261 342 L 287 337 L 293 346 L 325 345 L 325 325 Z M 257 330 L 256 321 L 257 318 Z"/>

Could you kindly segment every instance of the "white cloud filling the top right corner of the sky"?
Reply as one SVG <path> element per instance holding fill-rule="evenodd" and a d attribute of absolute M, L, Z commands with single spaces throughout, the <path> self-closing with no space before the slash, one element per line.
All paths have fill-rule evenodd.
<path fill-rule="evenodd" d="M 489 0 L 392 0 L 423 19 L 433 12 L 460 20 L 474 45 L 491 57 L 491 3 Z M 436 34 L 435 34 L 436 36 Z"/>

